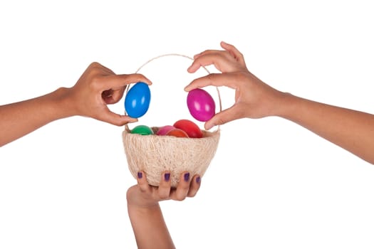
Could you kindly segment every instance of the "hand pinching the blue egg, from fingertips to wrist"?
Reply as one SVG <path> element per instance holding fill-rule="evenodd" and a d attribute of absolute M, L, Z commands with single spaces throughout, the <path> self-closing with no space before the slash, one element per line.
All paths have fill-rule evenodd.
<path fill-rule="evenodd" d="M 113 113 L 107 105 L 118 102 L 128 84 L 140 81 L 152 84 L 143 75 L 116 75 L 100 63 L 91 63 L 67 95 L 76 115 L 121 126 L 137 119 Z"/>

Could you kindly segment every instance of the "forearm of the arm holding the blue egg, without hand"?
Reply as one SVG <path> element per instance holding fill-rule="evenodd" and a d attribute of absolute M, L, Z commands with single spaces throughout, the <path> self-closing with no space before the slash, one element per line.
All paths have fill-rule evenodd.
<path fill-rule="evenodd" d="M 49 122 L 74 115 L 67 91 L 59 88 L 41 97 L 0 106 L 0 147 Z"/>

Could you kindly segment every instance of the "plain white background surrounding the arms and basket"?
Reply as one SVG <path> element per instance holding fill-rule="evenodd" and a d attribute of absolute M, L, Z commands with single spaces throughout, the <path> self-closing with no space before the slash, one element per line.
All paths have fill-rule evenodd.
<path fill-rule="evenodd" d="M 0 105 L 71 87 L 93 61 L 133 73 L 153 56 L 192 56 L 227 41 L 274 88 L 373 113 L 371 6 L 1 1 Z M 170 73 L 187 69 L 172 65 Z M 221 91 L 228 107 L 234 95 Z M 185 108 L 177 94 L 180 102 L 160 103 L 171 108 L 160 120 Z M 123 112 L 123 102 L 111 108 Z M 197 196 L 162 203 L 177 248 L 374 248 L 373 165 L 276 117 L 221 129 Z M 0 248 L 136 248 L 122 130 L 71 117 L 0 148 Z"/>

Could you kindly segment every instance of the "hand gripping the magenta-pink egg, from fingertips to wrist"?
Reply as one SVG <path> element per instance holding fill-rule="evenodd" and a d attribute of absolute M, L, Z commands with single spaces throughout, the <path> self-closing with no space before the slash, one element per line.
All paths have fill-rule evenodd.
<path fill-rule="evenodd" d="M 222 73 L 211 73 L 197 78 L 187 85 L 186 91 L 207 85 L 224 85 L 235 89 L 234 105 L 214 115 L 205 123 L 205 129 L 244 117 L 261 118 L 276 115 L 276 108 L 279 107 L 279 100 L 284 92 L 271 88 L 250 73 L 243 55 L 237 48 L 224 42 L 221 46 L 224 51 L 207 50 L 194 55 L 194 61 L 187 69 L 189 73 L 194 73 L 202 66 L 214 65 Z"/>

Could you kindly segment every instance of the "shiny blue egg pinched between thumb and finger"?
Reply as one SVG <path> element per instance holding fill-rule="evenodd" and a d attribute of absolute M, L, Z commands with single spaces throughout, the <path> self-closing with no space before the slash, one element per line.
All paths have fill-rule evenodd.
<path fill-rule="evenodd" d="M 142 117 L 150 107 L 150 88 L 146 83 L 133 85 L 125 97 L 125 110 L 129 117 Z"/>

